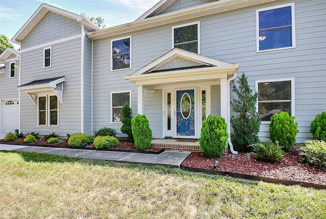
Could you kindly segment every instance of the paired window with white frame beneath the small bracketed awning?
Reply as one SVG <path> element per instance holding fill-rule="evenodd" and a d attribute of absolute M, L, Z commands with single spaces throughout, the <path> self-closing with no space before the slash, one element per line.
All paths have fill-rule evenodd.
<path fill-rule="evenodd" d="M 38 97 L 38 125 L 39 126 L 58 126 L 58 97 L 39 96 Z"/>

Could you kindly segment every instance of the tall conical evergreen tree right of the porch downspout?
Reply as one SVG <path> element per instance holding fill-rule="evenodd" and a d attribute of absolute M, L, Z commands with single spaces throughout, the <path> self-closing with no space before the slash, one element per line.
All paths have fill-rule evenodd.
<path fill-rule="evenodd" d="M 258 93 L 250 89 L 244 73 L 239 77 L 238 84 L 239 88 L 233 85 L 233 92 L 238 98 L 231 101 L 232 110 L 237 113 L 236 117 L 231 117 L 234 130 L 231 141 L 235 150 L 248 152 L 252 151 L 250 145 L 259 142 L 260 119 L 256 111 Z"/>

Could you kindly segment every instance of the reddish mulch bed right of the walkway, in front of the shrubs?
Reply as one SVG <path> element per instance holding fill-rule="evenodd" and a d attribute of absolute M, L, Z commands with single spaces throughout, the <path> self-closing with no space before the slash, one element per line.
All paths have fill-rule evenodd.
<path fill-rule="evenodd" d="M 219 165 L 214 169 L 214 161 Z M 290 151 L 279 163 L 257 160 L 255 155 L 238 152 L 223 154 L 220 158 L 208 158 L 201 152 L 193 152 L 182 163 L 184 167 L 215 170 L 275 179 L 303 181 L 326 185 L 326 170 L 319 170 L 300 161 L 298 151 Z"/>

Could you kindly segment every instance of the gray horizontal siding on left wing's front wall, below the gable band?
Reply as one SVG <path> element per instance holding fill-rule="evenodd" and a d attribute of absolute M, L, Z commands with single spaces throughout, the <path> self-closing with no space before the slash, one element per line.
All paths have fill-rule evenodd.
<path fill-rule="evenodd" d="M 25 92 L 21 92 L 21 131 L 23 133 L 37 131 L 40 134 L 56 132 L 66 133 L 81 131 L 81 39 L 66 41 L 52 45 L 52 67 L 43 68 L 43 48 L 21 53 L 21 84 L 33 80 L 65 76 L 63 103 L 59 104 L 59 127 L 37 126 L 37 105 Z"/>

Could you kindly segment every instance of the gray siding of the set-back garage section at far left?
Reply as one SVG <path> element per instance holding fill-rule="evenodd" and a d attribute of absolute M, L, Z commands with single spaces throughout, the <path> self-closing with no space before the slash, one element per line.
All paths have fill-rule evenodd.
<path fill-rule="evenodd" d="M 12 56 L 9 59 L 14 58 Z M 16 68 L 16 77 L 10 78 L 10 63 L 16 62 L 19 65 L 19 59 L 5 63 L 5 73 L 0 74 L 0 99 L 18 98 L 18 78 L 19 69 Z"/>

